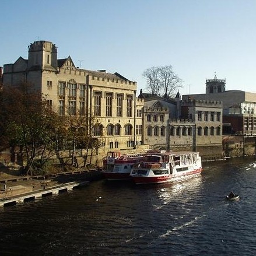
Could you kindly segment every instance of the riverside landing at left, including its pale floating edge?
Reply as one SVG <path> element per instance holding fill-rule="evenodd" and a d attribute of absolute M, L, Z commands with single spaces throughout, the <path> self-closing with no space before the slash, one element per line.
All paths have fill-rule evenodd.
<path fill-rule="evenodd" d="M 47 178 L 43 176 L 0 178 L 0 207 L 71 191 L 97 177 L 100 177 L 100 171 L 95 169 L 59 173 Z"/>

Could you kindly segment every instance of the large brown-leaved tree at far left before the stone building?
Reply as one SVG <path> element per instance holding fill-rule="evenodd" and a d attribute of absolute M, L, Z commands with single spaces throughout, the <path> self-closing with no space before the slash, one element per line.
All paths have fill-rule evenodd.
<path fill-rule="evenodd" d="M 47 104 L 47 97 L 22 83 L 6 88 L 0 100 L 1 142 L 20 146 L 24 152 L 23 170 L 31 174 L 34 161 L 47 162 L 56 149 L 56 131 L 63 130 L 60 117 Z"/>

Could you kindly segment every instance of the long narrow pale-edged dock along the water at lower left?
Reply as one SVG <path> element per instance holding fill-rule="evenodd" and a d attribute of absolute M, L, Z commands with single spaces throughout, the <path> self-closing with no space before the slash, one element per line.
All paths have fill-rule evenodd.
<path fill-rule="evenodd" d="M 47 195 L 56 195 L 59 192 L 71 191 L 74 187 L 79 187 L 88 184 L 89 181 L 73 181 L 70 183 L 64 183 L 47 187 L 41 190 L 34 190 L 23 194 L 18 194 L 13 197 L 7 197 L 0 199 L 0 207 L 8 205 L 16 205 L 22 202 L 31 201 L 36 198 L 46 197 Z"/>

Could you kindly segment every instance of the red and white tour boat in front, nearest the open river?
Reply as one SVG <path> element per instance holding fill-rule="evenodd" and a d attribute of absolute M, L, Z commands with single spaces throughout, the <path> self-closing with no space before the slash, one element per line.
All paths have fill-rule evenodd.
<path fill-rule="evenodd" d="M 145 155 L 131 171 L 135 184 L 165 183 L 198 176 L 202 171 L 198 152 L 158 152 Z"/>

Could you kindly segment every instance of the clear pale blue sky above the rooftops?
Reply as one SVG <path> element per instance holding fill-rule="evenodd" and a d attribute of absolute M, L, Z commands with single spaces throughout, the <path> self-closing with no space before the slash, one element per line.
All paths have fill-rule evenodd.
<path fill-rule="evenodd" d="M 52 41 L 58 58 L 118 72 L 145 91 L 146 68 L 172 65 L 181 94 L 205 79 L 256 92 L 256 0 L 1 0 L 0 66 Z"/>

